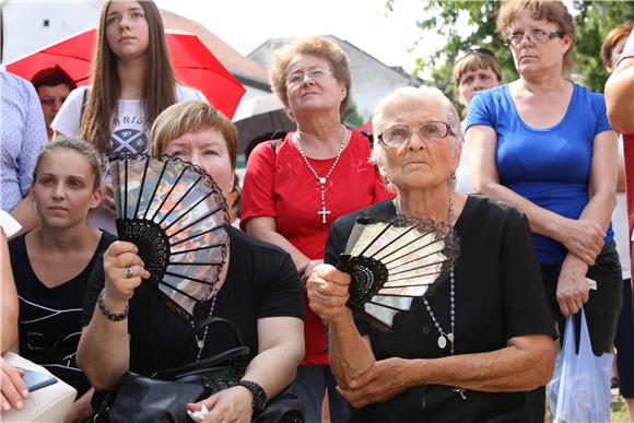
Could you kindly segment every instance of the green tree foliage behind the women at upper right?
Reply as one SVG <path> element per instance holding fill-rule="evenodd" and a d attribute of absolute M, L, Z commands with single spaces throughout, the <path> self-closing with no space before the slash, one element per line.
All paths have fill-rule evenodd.
<path fill-rule="evenodd" d="M 408 0 L 386 0 L 388 14 L 399 1 Z M 611 28 L 627 20 L 634 20 L 634 2 L 574 0 L 573 4 L 572 12 L 577 23 L 575 79 L 594 91 L 602 92 L 607 74 L 601 64 L 601 43 Z M 434 55 L 418 58 L 414 73 L 431 73 L 425 83 L 437 86 L 450 98 L 455 98 L 453 72 L 456 59 L 463 51 L 478 46 L 495 54 L 502 64 L 505 82 L 517 79 L 510 50 L 495 31 L 498 7 L 500 2 L 492 0 L 422 0 L 423 17 L 418 22 L 422 35 L 414 40 L 413 47 L 424 44 L 425 35 L 430 33 L 445 36 L 446 44 Z"/>

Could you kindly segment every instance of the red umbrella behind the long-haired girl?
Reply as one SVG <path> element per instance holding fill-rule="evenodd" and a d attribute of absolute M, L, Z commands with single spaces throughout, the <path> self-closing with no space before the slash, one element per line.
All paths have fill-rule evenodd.
<path fill-rule="evenodd" d="M 165 35 L 176 79 L 200 90 L 209 103 L 231 119 L 245 87 L 196 35 L 169 32 Z M 7 64 L 7 70 L 31 80 L 39 70 L 59 64 L 79 85 L 85 85 L 90 83 L 95 40 L 96 30 L 89 30 L 17 59 Z"/>

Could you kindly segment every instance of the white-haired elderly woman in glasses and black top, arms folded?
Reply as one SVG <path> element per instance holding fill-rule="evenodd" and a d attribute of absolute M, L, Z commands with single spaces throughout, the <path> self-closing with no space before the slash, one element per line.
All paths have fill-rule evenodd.
<path fill-rule="evenodd" d="M 310 308 L 330 327 L 330 364 L 354 407 L 352 421 L 526 421 L 524 391 L 548 381 L 554 366 L 553 322 L 526 216 L 454 191 L 460 120 L 437 89 L 397 90 L 378 105 L 373 124 L 373 157 L 397 198 L 334 222 L 326 246 L 330 265 L 316 267 L 307 282 Z M 401 291 L 386 289 L 384 279 L 353 316 L 347 304 L 360 304 L 355 284 L 363 275 L 343 265 L 368 258 L 340 254 L 350 251 L 347 243 L 355 244 L 352 250 L 360 243 L 372 247 L 359 228 L 373 219 L 424 222 L 447 234 L 432 244 L 458 238 L 459 255 L 451 260 L 445 254 L 455 248 L 436 248 L 444 263 L 428 295 L 410 291 L 423 277 L 401 281 Z M 384 244 L 387 256 L 394 247 Z M 401 270 L 381 266 L 390 280 Z M 411 304 L 402 307 L 408 296 Z"/>

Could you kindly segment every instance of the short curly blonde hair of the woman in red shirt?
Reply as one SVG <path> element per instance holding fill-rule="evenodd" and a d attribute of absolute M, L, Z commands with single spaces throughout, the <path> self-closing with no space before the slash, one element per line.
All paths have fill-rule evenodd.
<path fill-rule="evenodd" d="M 343 49 L 324 37 L 309 36 L 300 38 L 274 51 L 270 82 L 278 98 L 284 106 L 289 107 L 289 96 L 286 95 L 287 68 L 291 60 L 297 55 L 316 56 L 330 63 L 332 75 L 345 86 L 345 98 L 343 98 L 339 107 L 339 115 L 343 118 L 350 102 L 350 63 Z"/>

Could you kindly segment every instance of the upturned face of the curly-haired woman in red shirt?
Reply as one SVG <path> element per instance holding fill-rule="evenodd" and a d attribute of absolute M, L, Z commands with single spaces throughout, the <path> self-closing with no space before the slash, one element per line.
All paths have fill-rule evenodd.
<path fill-rule="evenodd" d="M 297 55 L 286 68 L 289 109 L 295 118 L 319 110 L 336 110 L 345 98 L 345 86 L 337 81 L 328 60 Z"/>

